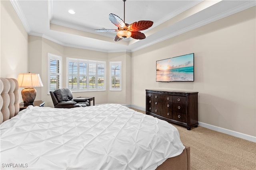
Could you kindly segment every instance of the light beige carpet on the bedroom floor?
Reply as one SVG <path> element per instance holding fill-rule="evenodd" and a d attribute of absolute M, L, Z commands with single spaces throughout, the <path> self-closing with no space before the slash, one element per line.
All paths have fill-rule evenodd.
<path fill-rule="evenodd" d="M 200 126 L 174 126 L 190 146 L 191 170 L 256 170 L 256 143 Z"/>

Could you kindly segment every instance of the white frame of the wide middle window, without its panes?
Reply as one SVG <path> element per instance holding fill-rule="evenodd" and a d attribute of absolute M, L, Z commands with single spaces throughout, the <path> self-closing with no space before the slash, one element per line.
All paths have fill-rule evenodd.
<path fill-rule="evenodd" d="M 72 74 L 69 73 L 69 62 L 76 62 L 77 63 L 77 74 L 73 74 L 73 75 L 77 75 L 78 80 L 79 81 L 79 68 L 80 68 L 80 63 L 86 63 L 87 64 L 87 68 L 86 68 L 86 88 L 79 88 L 79 84 L 77 85 L 76 89 L 72 89 L 69 87 L 69 76 L 72 76 Z M 76 59 L 76 58 L 66 58 L 66 77 L 67 77 L 67 88 L 70 88 L 70 90 L 72 92 L 93 92 L 93 91 L 106 91 L 106 61 L 94 61 L 94 60 L 86 60 L 86 59 Z M 90 64 L 96 64 L 96 71 L 95 74 L 90 74 Z M 102 75 L 102 74 L 98 74 L 98 65 L 99 64 L 103 64 L 104 65 L 104 88 L 99 88 L 98 87 L 98 75 Z M 85 75 L 85 74 L 82 74 Z M 95 76 L 95 88 L 90 88 L 90 76 Z"/>

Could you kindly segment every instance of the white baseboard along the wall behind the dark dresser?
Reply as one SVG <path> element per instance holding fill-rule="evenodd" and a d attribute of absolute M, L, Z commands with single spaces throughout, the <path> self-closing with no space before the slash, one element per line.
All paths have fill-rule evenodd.
<path fill-rule="evenodd" d="M 126 106 L 126 105 L 125 105 Z M 134 109 L 139 109 L 139 110 L 142 110 L 142 111 L 146 111 L 145 108 L 143 107 L 140 107 L 140 106 L 136 106 L 136 105 L 133 105 L 133 104 L 130 104 L 128 105 L 129 107 L 132 107 Z M 128 107 L 127 106 L 127 107 Z M 247 141 L 252 141 L 252 142 L 255 142 L 256 143 L 256 137 L 254 136 L 251 136 L 251 135 L 246 135 L 244 133 L 240 133 L 240 132 L 236 132 L 236 131 L 232 131 L 232 130 L 229 130 L 229 129 L 224 129 L 222 127 L 218 127 L 218 126 L 214 126 L 214 125 L 209 125 L 207 123 L 202 123 L 202 122 L 198 122 L 198 125 L 199 126 L 202 126 L 202 127 L 205 127 L 207 129 L 211 129 L 211 130 L 214 130 L 214 131 L 217 131 L 217 132 L 221 132 L 221 133 L 225 133 L 225 134 L 228 134 L 228 135 L 232 135 L 234 137 L 239 137 L 239 138 L 242 138 L 242 139 L 245 139 Z"/>

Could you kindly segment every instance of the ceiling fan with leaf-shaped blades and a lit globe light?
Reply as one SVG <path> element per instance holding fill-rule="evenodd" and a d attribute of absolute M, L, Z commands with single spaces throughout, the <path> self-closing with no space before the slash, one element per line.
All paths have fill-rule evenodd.
<path fill-rule="evenodd" d="M 125 1 L 124 1 L 124 19 L 125 19 Z M 153 25 L 153 21 L 138 21 L 132 24 L 125 23 L 121 18 L 115 14 L 109 14 L 109 20 L 118 27 L 118 29 L 95 29 L 97 32 L 117 32 L 114 41 L 120 41 L 124 38 L 132 37 L 134 39 L 145 39 L 146 36 L 144 33 L 140 32 L 142 30 L 148 29 Z"/>

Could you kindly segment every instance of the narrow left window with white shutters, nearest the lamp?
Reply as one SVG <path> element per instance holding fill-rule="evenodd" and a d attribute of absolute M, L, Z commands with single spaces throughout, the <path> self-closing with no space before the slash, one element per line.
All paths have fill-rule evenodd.
<path fill-rule="evenodd" d="M 48 94 L 61 88 L 61 57 L 48 53 Z"/>

